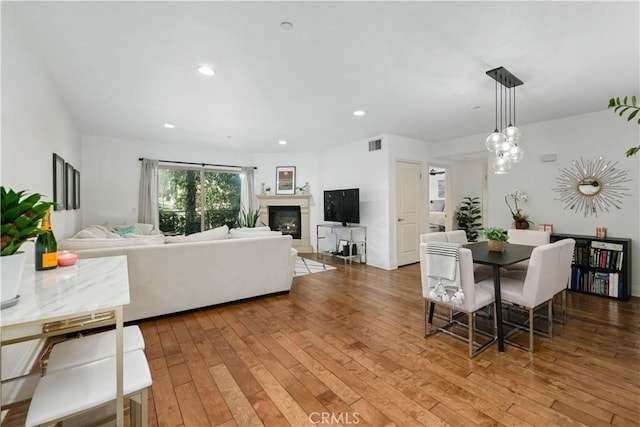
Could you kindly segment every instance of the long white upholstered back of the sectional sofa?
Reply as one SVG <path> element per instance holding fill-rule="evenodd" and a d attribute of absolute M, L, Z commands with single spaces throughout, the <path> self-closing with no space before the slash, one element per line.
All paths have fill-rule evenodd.
<path fill-rule="evenodd" d="M 131 303 L 124 320 L 137 320 L 291 289 L 297 251 L 291 236 L 78 250 L 80 258 L 126 255 Z"/>

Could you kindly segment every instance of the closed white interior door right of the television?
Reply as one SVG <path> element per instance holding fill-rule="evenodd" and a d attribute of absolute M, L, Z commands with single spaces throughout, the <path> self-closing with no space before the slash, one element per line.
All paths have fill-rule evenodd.
<path fill-rule="evenodd" d="M 396 260 L 398 267 L 420 261 L 422 165 L 396 161 Z"/>

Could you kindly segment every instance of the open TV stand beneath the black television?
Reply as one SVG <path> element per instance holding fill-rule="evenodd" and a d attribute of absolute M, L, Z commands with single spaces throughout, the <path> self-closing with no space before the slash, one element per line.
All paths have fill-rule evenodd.
<path fill-rule="evenodd" d="M 335 247 L 333 250 L 325 248 L 320 249 L 320 240 L 326 239 L 328 236 L 335 236 Z M 330 242 L 330 244 L 333 242 Z M 341 251 L 346 246 L 346 251 Z M 333 257 L 344 260 L 346 264 L 351 264 L 354 260 L 357 262 L 367 263 L 367 227 L 358 224 L 335 223 L 335 224 L 318 224 L 316 228 L 316 250 L 321 255 L 331 255 Z"/>

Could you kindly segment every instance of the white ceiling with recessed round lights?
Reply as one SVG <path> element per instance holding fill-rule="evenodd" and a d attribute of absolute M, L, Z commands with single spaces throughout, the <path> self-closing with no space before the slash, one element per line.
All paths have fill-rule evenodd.
<path fill-rule="evenodd" d="M 252 152 L 383 133 L 431 142 L 488 134 L 495 82 L 485 72 L 498 66 L 524 81 L 519 125 L 640 93 L 638 1 L 9 7 L 83 134 Z M 217 75 L 198 74 L 200 64 Z"/>

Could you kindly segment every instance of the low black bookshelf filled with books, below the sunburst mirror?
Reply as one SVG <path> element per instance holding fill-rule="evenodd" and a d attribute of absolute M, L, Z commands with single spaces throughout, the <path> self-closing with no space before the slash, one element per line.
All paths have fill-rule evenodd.
<path fill-rule="evenodd" d="M 627 301 L 631 296 L 631 239 L 552 234 L 551 242 L 574 239 L 567 289 Z"/>

